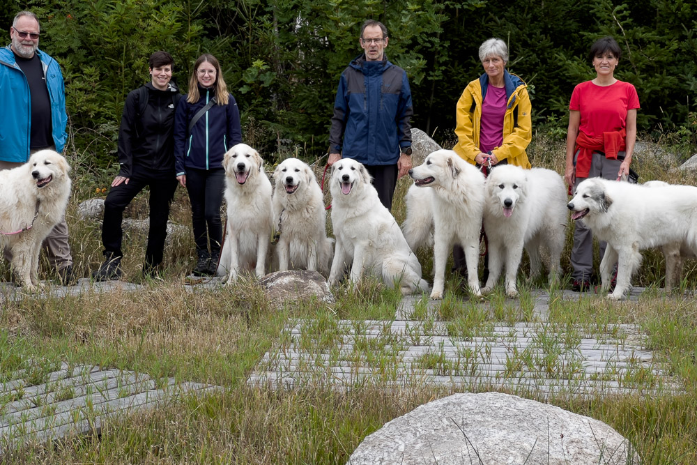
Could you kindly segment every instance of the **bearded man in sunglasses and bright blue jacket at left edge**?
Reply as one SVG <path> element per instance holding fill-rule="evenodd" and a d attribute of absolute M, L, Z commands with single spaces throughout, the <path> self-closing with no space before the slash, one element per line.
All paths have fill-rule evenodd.
<path fill-rule="evenodd" d="M 38 49 L 39 36 L 36 15 L 20 11 L 10 28 L 10 45 L 0 49 L 0 169 L 18 167 L 45 148 L 61 153 L 66 144 L 63 75 L 58 62 Z M 65 218 L 43 245 L 62 284 L 68 284 L 72 256 Z"/>

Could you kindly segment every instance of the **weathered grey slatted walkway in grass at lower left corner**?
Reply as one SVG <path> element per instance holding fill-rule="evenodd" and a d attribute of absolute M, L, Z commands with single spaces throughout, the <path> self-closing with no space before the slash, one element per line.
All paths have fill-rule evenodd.
<path fill-rule="evenodd" d="M 220 389 L 66 364 L 36 384 L 26 371 L 3 375 L 3 379 L 7 381 L 0 383 L 0 455 L 2 448 L 27 441 L 43 443 L 74 434 L 99 433 L 102 422 L 119 412 L 154 409 L 187 393 Z"/>

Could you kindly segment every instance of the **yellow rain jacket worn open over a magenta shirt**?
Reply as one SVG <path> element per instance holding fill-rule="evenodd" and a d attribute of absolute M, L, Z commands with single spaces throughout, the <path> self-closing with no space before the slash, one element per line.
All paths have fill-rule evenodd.
<path fill-rule="evenodd" d="M 504 82 L 508 103 L 503 116 L 503 144 L 491 152 L 499 161 L 508 160 L 510 165 L 529 169 L 530 161 L 525 149 L 533 138 L 530 96 L 525 82 L 520 77 L 504 71 Z M 473 165 L 475 156 L 480 153 L 480 123 L 484 100 L 482 89 L 487 89 L 488 84 L 489 76 L 484 73 L 467 85 L 457 101 L 457 144 L 452 149 Z"/>

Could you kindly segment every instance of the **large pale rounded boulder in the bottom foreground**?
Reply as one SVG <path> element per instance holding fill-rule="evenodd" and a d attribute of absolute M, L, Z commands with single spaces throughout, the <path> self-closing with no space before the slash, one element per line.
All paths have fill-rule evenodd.
<path fill-rule="evenodd" d="M 627 457 L 629 456 L 629 459 Z M 638 464 L 604 422 L 500 392 L 455 394 L 395 418 L 350 465 Z"/>

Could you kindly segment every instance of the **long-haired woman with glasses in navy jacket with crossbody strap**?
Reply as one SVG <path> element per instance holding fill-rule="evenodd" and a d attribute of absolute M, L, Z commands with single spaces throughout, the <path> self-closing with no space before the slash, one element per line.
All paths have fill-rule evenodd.
<path fill-rule="evenodd" d="M 201 110 L 207 111 L 197 116 Z M 194 275 L 215 273 L 222 243 L 220 206 L 225 188 L 222 158 L 240 142 L 242 129 L 237 102 L 227 91 L 220 63 L 215 56 L 203 54 L 194 64 L 189 93 L 178 105 L 174 119 L 176 178 L 189 192 L 198 255 Z"/>

